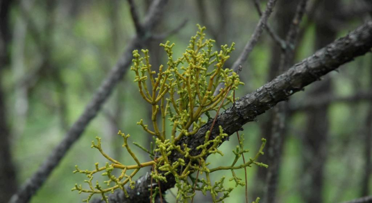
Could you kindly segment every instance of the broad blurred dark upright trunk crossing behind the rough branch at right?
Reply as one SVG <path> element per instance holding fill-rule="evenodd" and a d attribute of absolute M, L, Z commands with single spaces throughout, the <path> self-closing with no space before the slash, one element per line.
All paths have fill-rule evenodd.
<path fill-rule="evenodd" d="M 335 40 L 337 30 L 330 24 L 332 16 L 338 12 L 337 0 L 322 1 L 315 19 L 315 48 L 321 48 Z M 321 85 L 310 91 L 309 97 L 331 93 L 331 80 L 327 78 Z M 328 137 L 328 105 L 313 108 L 307 113 L 305 136 L 303 137 L 301 196 L 304 202 L 323 202 L 323 174 L 326 165 L 326 143 Z M 314 161 L 317 160 L 317 161 Z M 305 189 L 306 188 L 306 189 Z"/>

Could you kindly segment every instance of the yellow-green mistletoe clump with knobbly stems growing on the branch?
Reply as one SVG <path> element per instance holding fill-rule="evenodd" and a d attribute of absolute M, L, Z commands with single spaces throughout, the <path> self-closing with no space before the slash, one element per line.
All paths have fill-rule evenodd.
<path fill-rule="evenodd" d="M 131 150 L 128 138 L 129 134 L 124 134 L 119 131 L 119 135 L 123 137 L 123 147 L 128 151 L 129 155 L 135 161 L 135 165 L 126 165 L 113 159 L 103 152 L 101 148 L 101 139 L 96 137 L 96 142 L 92 141 L 92 148 L 96 148 L 101 152 L 103 157 L 108 159 L 105 166 L 95 164 L 94 170 L 81 170 L 76 166 L 74 173 L 84 173 L 87 175 L 85 182 L 89 188 L 83 188 L 81 185 L 75 184 L 72 191 L 79 193 L 89 193 L 86 200 L 89 202 L 94 194 L 100 194 L 102 200 L 108 202 L 107 193 L 113 193 L 116 189 L 124 191 L 128 196 L 128 191 L 125 188 L 129 184 L 129 188 L 135 187 L 133 181 L 134 176 L 138 171 L 145 167 L 151 167 L 151 181 L 158 182 L 156 188 L 149 188 L 151 196 L 149 202 L 153 200 L 155 195 L 161 195 L 160 182 L 167 182 L 167 176 L 174 176 L 176 179 L 176 187 L 178 193 L 177 200 L 184 202 L 187 199 L 194 197 L 196 191 L 201 191 L 204 195 L 209 191 L 212 195 L 213 202 L 223 202 L 229 196 L 233 188 L 226 188 L 223 184 L 225 177 L 221 177 L 219 181 L 212 182 L 210 173 L 217 173 L 220 170 L 231 170 L 232 177 L 230 181 L 235 182 L 235 186 L 244 186 L 246 183 L 235 175 L 235 170 L 246 168 L 253 164 L 257 166 L 267 165 L 258 163 L 257 158 L 263 154 L 265 139 L 262 139 L 262 145 L 254 158 L 249 159 L 244 164 L 238 165 L 237 161 L 242 157 L 243 153 L 248 152 L 244 149 L 244 139 L 240 136 L 239 145 L 233 150 L 235 159 L 230 166 L 219 166 L 217 168 L 209 168 L 210 163 L 206 161 L 209 155 L 223 153 L 218 149 L 219 145 L 228 134 L 223 132 L 223 128 L 219 126 L 219 134 L 217 136 L 210 136 L 210 131 L 205 134 L 204 142 L 196 149 L 198 155 L 190 155 L 190 148 L 186 145 L 180 145 L 179 141 L 183 137 L 192 136 L 198 132 L 199 128 L 207 121 L 202 119 L 202 115 L 212 119 L 211 112 L 218 114 L 221 107 L 226 107 L 229 103 L 233 103 L 233 94 L 230 91 L 235 91 L 240 82 L 237 73 L 230 69 L 223 69 L 223 65 L 230 57 L 230 53 L 234 50 L 234 44 L 230 47 L 227 45 L 221 46 L 221 51 L 212 51 L 214 40 L 205 39 L 203 31 L 205 27 L 198 26 L 198 32 L 194 37 L 191 37 L 190 44 L 185 53 L 180 58 L 174 59 L 172 48 L 174 44 L 169 42 L 160 44 L 168 55 L 167 67 L 161 65 L 158 73 L 153 71 L 149 63 L 149 51 L 142 50 L 143 57 L 139 51 L 133 51 L 133 67 L 130 70 L 135 72 L 135 82 L 139 87 L 140 94 L 149 105 L 151 105 L 152 127 L 144 124 L 141 120 L 137 124 L 141 125 L 143 130 L 153 136 L 155 145 L 150 150 L 142 147 L 138 143 L 133 143 L 137 147 L 149 154 L 150 161 L 141 162 L 137 159 L 135 153 Z M 151 83 L 151 89 L 147 87 L 147 82 Z M 223 82 L 224 87 L 219 89 L 218 94 L 214 95 L 219 83 Z M 229 96 L 230 94 L 230 96 Z M 227 99 L 226 103 L 223 103 Z M 160 114 L 160 117 L 158 117 Z M 216 115 L 217 116 L 217 115 Z M 161 121 L 158 121 L 161 118 Z M 216 117 L 215 117 L 216 118 Z M 170 121 L 171 127 L 167 129 L 167 120 Z M 170 132 L 168 132 L 170 131 Z M 151 143 L 153 146 L 153 143 Z M 178 152 L 183 158 L 177 161 L 171 161 L 169 156 L 172 152 Z M 115 176 L 112 170 L 121 170 L 119 176 Z M 102 175 L 107 176 L 104 182 L 105 187 L 99 184 L 98 181 L 93 182 L 96 173 L 103 172 Z M 198 172 L 196 177 L 192 174 Z M 198 178 L 200 175 L 205 175 L 205 178 Z M 153 195 L 154 191 L 154 195 Z"/>

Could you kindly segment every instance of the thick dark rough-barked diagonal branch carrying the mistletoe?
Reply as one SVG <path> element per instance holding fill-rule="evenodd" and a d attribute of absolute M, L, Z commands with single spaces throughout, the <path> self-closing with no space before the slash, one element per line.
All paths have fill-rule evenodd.
<path fill-rule="evenodd" d="M 241 129 L 245 123 L 255 121 L 255 118 L 271 109 L 278 102 L 287 100 L 289 96 L 316 80 L 326 75 L 330 71 L 337 69 L 341 64 L 350 62 L 353 58 L 364 55 L 372 48 L 372 21 L 367 22 L 360 28 L 336 40 L 325 48 L 316 51 L 314 55 L 306 58 L 302 62 L 295 64 L 291 69 L 282 73 L 280 76 L 271 80 L 264 86 L 258 88 L 251 94 L 243 96 L 236 101 L 233 107 L 226 109 L 221 113 L 216 121 L 216 126 L 221 125 L 223 131 L 227 134 L 233 134 Z M 201 145 L 205 139 L 205 133 L 210 130 L 212 121 L 203 125 L 193 139 L 184 137 L 179 141 L 179 145 L 187 144 L 191 148 L 191 155 L 197 155 L 198 145 Z M 211 139 L 219 134 L 218 127 L 215 127 L 211 133 Z M 170 161 L 176 161 L 182 155 L 174 152 L 169 156 Z M 112 202 L 149 202 L 150 176 L 145 175 L 137 179 L 135 189 L 131 190 L 127 186 L 130 195 L 125 199 L 123 192 L 116 191 L 115 194 L 109 195 Z M 174 178 L 167 177 L 167 182 L 161 183 L 162 191 L 167 191 L 175 184 Z M 102 202 L 94 200 L 92 202 Z"/>

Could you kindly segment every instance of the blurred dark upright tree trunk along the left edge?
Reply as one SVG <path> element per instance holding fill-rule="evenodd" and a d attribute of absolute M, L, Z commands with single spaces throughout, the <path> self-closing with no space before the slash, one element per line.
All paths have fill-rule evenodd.
<path fill-rule="evenodd" d="M 12 161 L 10 147 L 10 127 L 6 110 L 6 93 L 2 87 L 2 71 L 9 65 L 10 45 L 10 7 L 12 1 L 0 1 L 0 202 L 8 202 L 17 190 L 15 164 Z"/>

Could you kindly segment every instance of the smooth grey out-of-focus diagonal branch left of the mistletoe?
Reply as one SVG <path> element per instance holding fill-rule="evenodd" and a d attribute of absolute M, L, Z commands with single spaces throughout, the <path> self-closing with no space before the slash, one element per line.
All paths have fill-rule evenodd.
<path fill-rule="evenodd" d="M 154 1 L 142 28 L 147 32 L 151 32 L 151 29 L 160 19 L 160 14 L 164 8 L 167 0 L 157 0 Z M 49 175 L 58 164 L 61 159 L 65 157 L 71 145 L 80 138 L 83 134 L 85 127 L 92 121 L 92 119 L 98 114 L 103 103 L 108 99 L 112 90 L 117 85 L 117 83 L 123 78 L 124 73 L 126 73 L 128 67 L 132 62 L 132 51 L 136 48 L 140 48 L 144 43 L 144 37 L 135 36 L 130 40 L 126 47 L 126 51 L 119 59 L 112 71 L 110 71 L 108 77 L 103 80 L 101 86 L 94 94 L 94 97 L 90 103 L 85 107 L 83 114 L 78 118 L 78 120 L 69 129 L 65 138 L 54 148 L 53 152 L 44 161 L 42 166 L 37 169 L 36 173 L 26 181 L 26 183 L 19 189 L 19 191 L 12 196 L 10 202 L 28 202 L 31 197 L 37 192 L 37 190 L 44 184 Z"/>

